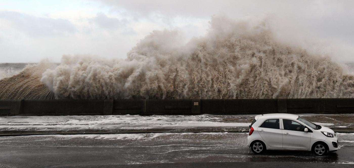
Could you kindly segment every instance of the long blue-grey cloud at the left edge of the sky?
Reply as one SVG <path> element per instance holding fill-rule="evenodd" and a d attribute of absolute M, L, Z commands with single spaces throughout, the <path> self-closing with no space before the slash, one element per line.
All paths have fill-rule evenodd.
<path fill-rule="evenodd" d="M 0 11 L 0 18 L 11 21 L 29 36 L 53 36 L 76 31 L 75 26 L 64 19 L 35 17 L 12 11 Z"/>

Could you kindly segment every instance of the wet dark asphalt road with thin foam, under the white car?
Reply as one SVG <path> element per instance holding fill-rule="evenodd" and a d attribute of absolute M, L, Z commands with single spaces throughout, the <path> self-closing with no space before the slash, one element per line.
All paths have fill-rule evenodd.
<path fill-rule="evenodd" d="M 0 137 L 1 167 L 91 166 L 183 162 L 313 162 L 354 164 L 354 133 L 339 133 L 340 149 L 268 151 L 254 155 L 245 133 L 151 133 Z M 354 167 L 354 165 L 353 165 Z"/>

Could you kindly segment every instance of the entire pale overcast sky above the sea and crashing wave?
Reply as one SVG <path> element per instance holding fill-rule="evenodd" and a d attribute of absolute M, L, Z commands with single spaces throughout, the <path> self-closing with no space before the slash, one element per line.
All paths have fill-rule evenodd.
<path fill-rule="evenodd" d="M 206 33 L 213 15 L 267 17 L 288 41 L 354 61 L 354 1 L 0 0 L 0 62 L 125 58 L 153 30 Z"/>

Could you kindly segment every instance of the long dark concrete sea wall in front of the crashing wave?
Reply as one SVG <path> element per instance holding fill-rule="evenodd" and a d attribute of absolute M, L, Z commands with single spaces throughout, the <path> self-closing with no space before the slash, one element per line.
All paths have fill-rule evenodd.
<path fill-rule="evenodd" d="M 0 100 L 0 115 L 353 113 L 354 99 Z"/>

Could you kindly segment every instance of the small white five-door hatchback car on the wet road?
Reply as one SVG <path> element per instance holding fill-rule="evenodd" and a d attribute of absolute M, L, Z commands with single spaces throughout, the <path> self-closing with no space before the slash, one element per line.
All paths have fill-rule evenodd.
<path fill-rule="evenodd" d="M 256 154 L 265 150 L 302 150 L 323 156 L 338 150 L 338 138 L 332 129 L 298 115 L 262 114 L 250 125 L 247 146 Z"/>

